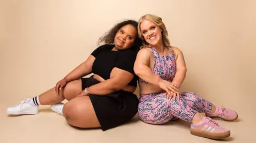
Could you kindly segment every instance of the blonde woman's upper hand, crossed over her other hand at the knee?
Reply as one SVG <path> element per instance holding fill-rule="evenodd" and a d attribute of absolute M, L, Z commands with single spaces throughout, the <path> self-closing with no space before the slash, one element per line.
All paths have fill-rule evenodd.
<path fill-rule="evenodd" d="M 158 86 L 167 92 L 167 99 L 172 99 L 172 97 L 174 98 L 174 100 L 176 99 L 176 97 L 180 99 L 179 89 L 177 88 L 177 86 L 173 85 L 172 82 L 161 80 L 158 83 Z"/>

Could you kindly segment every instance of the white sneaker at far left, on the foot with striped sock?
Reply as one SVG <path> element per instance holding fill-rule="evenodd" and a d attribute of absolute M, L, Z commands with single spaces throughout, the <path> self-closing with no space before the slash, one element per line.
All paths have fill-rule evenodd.
<path fill-rule="evenodd" d="M 12 115 L 21 115 L 21 114 L 37 114 L 38 106 L 30 104 L 31 98 L 22 100 L 19 105 L 15 105 L 7 108 L 6 112 Z"/>

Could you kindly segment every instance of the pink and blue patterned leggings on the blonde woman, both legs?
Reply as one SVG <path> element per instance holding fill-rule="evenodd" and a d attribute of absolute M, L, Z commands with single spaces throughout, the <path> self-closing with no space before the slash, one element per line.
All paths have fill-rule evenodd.
<path fill-rule="evenodd" d="M 166 93 L 141 95 L 138 114 L 143 122 L 163 124 L 177 118 L 191 122 L 199 112 L 210 112 L 212 103 L 192 92 L 181 92 L 180 100 L 167 99 Z"/>

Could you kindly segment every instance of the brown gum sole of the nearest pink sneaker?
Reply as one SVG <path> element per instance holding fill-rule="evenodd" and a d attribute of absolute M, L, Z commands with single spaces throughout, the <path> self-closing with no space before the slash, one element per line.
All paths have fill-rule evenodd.
<path fill-rule="evenodd" d="M 230 131 L 223 132 L 223 133 L 210 133 L 210 132 L 190 129 L 190 133 L 198 137 L 204 137 L 209 139 L 224 139 L 230 136 Z"/>

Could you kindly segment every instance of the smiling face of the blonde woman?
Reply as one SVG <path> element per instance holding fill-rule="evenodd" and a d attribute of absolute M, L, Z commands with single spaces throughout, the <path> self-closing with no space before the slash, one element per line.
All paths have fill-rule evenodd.
<path fill-rule="evenodd" d="M 143 20 L 140 23 L 140 30 L 146 42 L 151 46 L 156 46 L 162 40 L 161 28 L 150 20 Z"/>

